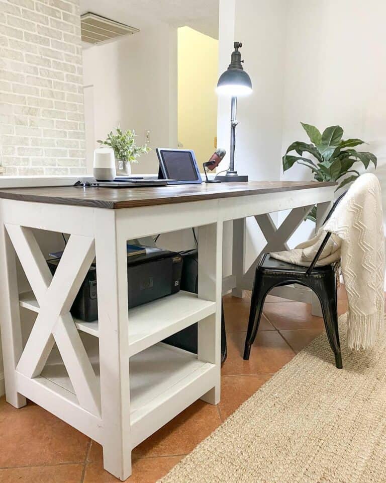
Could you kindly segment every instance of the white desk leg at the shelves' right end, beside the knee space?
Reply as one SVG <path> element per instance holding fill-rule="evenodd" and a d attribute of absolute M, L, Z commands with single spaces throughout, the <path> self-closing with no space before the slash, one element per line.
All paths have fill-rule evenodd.
<path fill-rule="evenodd" d="M 198 358 L 216 364 L 217 383 L 203 395 L 210 404 L 220 402 L 221 369 L 221 299 L 223 223 L 213 223 L 199 228 L 199 297 L 216 302 L 216 313 L 199 322 Z"/>

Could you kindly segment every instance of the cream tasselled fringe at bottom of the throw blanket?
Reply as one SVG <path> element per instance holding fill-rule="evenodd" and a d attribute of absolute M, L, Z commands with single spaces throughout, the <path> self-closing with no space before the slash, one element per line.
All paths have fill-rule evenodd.
<path fill-rule="evenodd" d="M 384 330 L 383 303 L 377 303 L 377 310 L 371 315 L 357 315 L 348 308 L 347 345 L 349 349 L 359 351 L 373 347 Z"/>

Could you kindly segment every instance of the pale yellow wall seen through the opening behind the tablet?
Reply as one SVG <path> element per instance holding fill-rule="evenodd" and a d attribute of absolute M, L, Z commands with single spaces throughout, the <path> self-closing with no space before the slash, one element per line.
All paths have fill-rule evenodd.
<path fill-rule="evenodd" d="M 218 40 L 189 27 L 178 35 L 178 142 L 194 149 L 200 171 L 217 136 Z"/>

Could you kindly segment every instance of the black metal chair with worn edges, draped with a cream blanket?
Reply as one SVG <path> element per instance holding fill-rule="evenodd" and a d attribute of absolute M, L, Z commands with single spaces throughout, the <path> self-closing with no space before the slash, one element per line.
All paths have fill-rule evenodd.
<path fill-rule="evenodd" d="M 327 221 L 334 209 L 346 194 L 343 193 L 334 202 Z M 251 308 L 249 312 L 248 332 L 245 340 L 244 360 L 249 359 L 251 346 L 256 338 L 260 324 L 261 313 L 265 297 L 274 287 L 291 285 L 297 283 L 309 287 L 320 300 L 324 318 L 324 325 L 327 332 L 328 342 L 335 355 L 335 365 L 342 369 L 342 355 L 340 352 L 339 332 L 338 332 L 338 310 L 336 294 L 336 273 L 334 264 L 315 267 L 331 233 L 324 237 L 317 254 L 309 267 L 301 267 L 290 263 L 282 262 L 271 258 L 268 253 L 264 254 L 256 268 L 255 278 L 251 296 Z"/>

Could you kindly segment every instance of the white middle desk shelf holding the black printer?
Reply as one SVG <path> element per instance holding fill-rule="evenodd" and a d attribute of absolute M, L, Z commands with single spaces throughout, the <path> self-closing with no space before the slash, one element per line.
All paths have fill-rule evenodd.
<path fill-rule="evenodd" d="M 33 292 L 19 295 L 21 307 L 39 313 Z M 157 342 L 195 324 L 216 312 L 216 302 L 199 299 L 197 294 L 180 291 L 168 297 L 129 309 L 129 355 L 147 349 Z M 98 320 L 84 322 L 74 318 L 79 331 L 99 337 Z"/>

